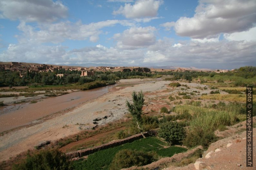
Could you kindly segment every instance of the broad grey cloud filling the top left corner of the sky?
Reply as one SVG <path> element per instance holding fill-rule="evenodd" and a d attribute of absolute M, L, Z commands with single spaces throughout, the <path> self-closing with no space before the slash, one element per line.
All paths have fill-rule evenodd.
<path fill-rule="evenodd" d="M 1 0 L 0 18 L 25 22 L 53 22 L 66 17 L 68 8 L 52 0 Z"/>

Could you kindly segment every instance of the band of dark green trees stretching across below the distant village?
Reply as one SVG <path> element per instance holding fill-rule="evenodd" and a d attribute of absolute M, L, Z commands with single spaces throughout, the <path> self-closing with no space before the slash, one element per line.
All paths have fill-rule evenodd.
<path fill-rule="evenodd" d="M 64 74 L 63 77 L 57 76 L 57 74 Z M 191 81 L 193 78 L 198 76 L 211 76 L 214 75 L 221 76 L 239 76 L 244 78 L 252 78 L 256 76 L 256 67 L 246 66 L 235 69 L 234 71 L 229 71 L 226 73 L 215 73 L 215 72 L 199 72 L 199 71 L 185 71 L 185 72 L 140 72 L 140 71 L 127 71 L 127 72 L 94 72 L 93 76 L 82 76 L 81 71 L 78 70 L 65 70 L 59 69 L 54 72 L 35 72 L 27 71 L 26 75 L 20 77 L 17 71 L 0 71 L 0 86 L 25 86 L 29 84 L 40 84 L 40 85 L 64 85 L 64 84 L 84 84 L 93 81 L 114 81 L 119 79 L 132 78 L 132 76 L 140 77 L 153 77 L 157 75 L 170 75 L 171 78 L 168 80 L 178 80 L 185 79 Z"/>

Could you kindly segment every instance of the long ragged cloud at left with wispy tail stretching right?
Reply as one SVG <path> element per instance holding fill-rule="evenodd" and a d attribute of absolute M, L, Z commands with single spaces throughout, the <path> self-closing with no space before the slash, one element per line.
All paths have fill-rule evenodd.
<path fill-rule="evenodd" d="M 19 41 L 36 41 L 36 42 L 52 42 L 60 43 L 66 39 L 69 40 L 86 40 L 96 42 L 99 35 L 102 33 L 101 29 L 104 27 L 121 24 L 124 26 L 133 25 L 132 22 L 123 20 L 107 20 L 101 22 L 92 22 L 90 24 L 83 24 L 82 22 L 72 23 L 69 21 L 58 23 L 44 23 L 39 25 L 40 28 L 35 28 L 31 25 L 21 22 L 18 29 L 23 31 L 23 35 L 19 36 Z"/>

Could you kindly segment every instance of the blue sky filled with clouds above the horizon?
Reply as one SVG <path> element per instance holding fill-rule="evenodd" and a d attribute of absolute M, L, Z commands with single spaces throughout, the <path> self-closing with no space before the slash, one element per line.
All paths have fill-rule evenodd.
<path fill-rule="evenodd" d="M 1 0 L 0 61 L 256 66 L 256 1 Z"/>

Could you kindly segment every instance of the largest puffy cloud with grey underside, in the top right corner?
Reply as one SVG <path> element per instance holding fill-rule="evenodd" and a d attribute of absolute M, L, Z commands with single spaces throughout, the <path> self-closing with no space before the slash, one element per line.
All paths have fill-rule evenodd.
<path fill-rule="evenodd" d="M 175 22 L 162 24 L 166 29 L 174 26 L 176 34 L 193 39 L 216 38 L 220 33 L 247 31 L 256 23 L 255 0 L 201 0 L 192 18 L 181 17 Z"/>

